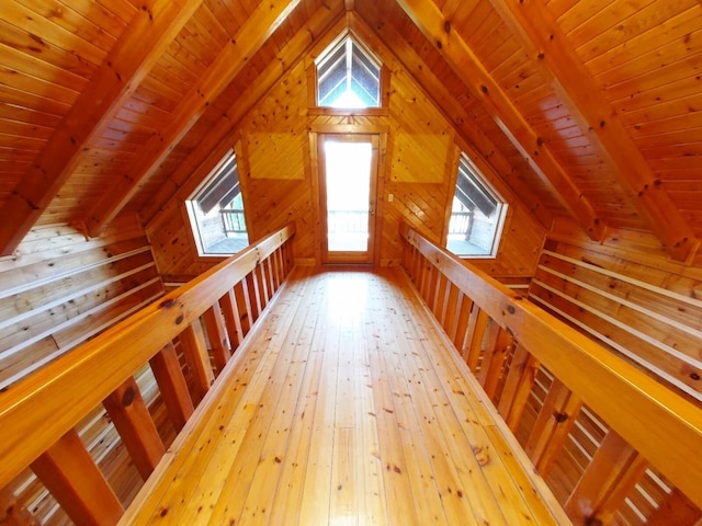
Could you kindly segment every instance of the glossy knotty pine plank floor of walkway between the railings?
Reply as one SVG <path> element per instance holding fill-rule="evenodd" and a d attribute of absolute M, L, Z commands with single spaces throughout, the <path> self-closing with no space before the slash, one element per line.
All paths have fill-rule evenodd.
<path fill-rule="evenodd" d="M 124 524 L 569 524 L 404 272 L 297 268 Z"/>

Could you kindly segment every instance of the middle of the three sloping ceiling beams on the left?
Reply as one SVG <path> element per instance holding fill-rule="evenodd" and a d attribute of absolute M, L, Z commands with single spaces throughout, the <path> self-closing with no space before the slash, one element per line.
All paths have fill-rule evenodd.
<path fill-rule="evenodd" d="M 259 3 L 237 35 L 227 42 L 207 71 L 185 94 L 161 133 L 148 140 L 113 191 L 105 193 L 91 210 L 87 220 L 90 236 L 98 236 L 115 218 L 299 1 L 270 0 Z"/>

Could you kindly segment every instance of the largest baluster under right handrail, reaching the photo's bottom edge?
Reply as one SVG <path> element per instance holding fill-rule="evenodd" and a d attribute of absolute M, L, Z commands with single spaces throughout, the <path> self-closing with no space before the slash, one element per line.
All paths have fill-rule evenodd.
<path fill-rule="evenodd" d="M 647 466 L 638 451 L 610 430 L 568 496 L 566 513 L 576 524 L 609 524 Z"/>

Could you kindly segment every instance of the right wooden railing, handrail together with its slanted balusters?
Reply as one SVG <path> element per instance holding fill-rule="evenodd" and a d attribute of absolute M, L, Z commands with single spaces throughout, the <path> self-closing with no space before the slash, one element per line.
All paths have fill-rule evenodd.
<path fill-rule="evenodd" d="M 702 409 L 408 226 L 400 230 L 404 268 L 512 431 L 539 368 L 555 377 L 525 447 L 542 474 L 563 455 L 584 404 L 609 425 L 564 503 L 576 524 L 607 524 L 648 466 L 702 507 Z"/>

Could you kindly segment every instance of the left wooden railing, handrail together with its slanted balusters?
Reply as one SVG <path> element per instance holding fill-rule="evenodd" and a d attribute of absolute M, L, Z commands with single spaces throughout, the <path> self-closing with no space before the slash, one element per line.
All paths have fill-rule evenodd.
<path fill-rule="evenodd" d="M 102 403 L 147 478 L 165 447 L 133 375 L 150 365 L 182 428 L 290 273 L 294 230 L 245 249 L 0 392 L 0 489 L 31 466 L 77 524 L 116 523 L 122 504 L 76 425 Z"/>

